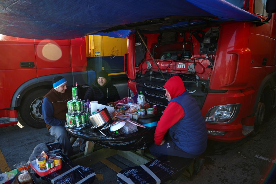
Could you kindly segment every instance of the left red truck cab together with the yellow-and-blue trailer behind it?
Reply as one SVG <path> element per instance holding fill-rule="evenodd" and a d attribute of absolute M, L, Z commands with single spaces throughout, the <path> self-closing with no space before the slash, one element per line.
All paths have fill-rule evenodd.
<path fill-rule="evenodd" d="M 81 96 L 84 96 L 96 77 L 95 73 L 104 68 L 119 94 L 125 97 L 127 77 L 123 70 L 123 55 L 126 43 L 126 39 L 103 36 L 37 40 L 0 34 L 0 127 L 17 124 L 18 115 L 19 120 L 30 127 L 45 127 L 41 100 L 53 87 L 55 75 L 64 76 L 69 88 L 77 83 Z M 114 47 L 118 48 L 118 53 L 112 53 L 110 57 L 108 54 Z M 95 51 L 101 51 L 101 55 L 95 57 Z"/>

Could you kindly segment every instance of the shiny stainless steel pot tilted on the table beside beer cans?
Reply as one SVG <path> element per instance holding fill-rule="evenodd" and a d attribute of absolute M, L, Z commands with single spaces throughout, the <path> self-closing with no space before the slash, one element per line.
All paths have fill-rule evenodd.
<path fill-rule="evenodd" d="M 109 114 L 107 108 L 104 108 L 89 117 L 89 121 L 92 124 L 93 128 L 101 127 L 111 119 L 112 117 Z"/>

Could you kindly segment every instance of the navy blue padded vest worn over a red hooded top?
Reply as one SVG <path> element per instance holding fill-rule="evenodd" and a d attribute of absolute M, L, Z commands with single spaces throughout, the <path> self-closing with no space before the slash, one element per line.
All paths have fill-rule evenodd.
<path fill-rule="evenodd" d="M 185 91 L 172 101 L 182 106 L 185 116 L 170 127 L 170 137 L 181 150 L 194 155 L 202 154 L 207 147 L 207 129 L 196 99 Z"/>

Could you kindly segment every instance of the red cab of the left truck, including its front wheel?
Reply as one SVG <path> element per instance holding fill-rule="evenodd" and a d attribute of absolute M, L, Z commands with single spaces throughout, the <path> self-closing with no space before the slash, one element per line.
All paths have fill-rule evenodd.
<path fill-rule="evenodd" d="M 31 127 L 45 127 L 41 100 L 62 75 L 68 86 L 87 84 L 85 38 L 36 40 L 0 35 L 0 127 L 21 119 Z"/>

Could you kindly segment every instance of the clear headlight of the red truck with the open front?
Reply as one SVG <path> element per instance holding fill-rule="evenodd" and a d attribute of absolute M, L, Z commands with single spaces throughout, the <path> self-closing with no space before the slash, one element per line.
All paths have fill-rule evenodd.
<path fill-rule="evenodd" d="M 240 104 L 229 104 L 212 107 L 205 116 L 206 122 L 229 123 L 237 116 Z M 233 118 L 234 119 L 234 118 Z"/>

